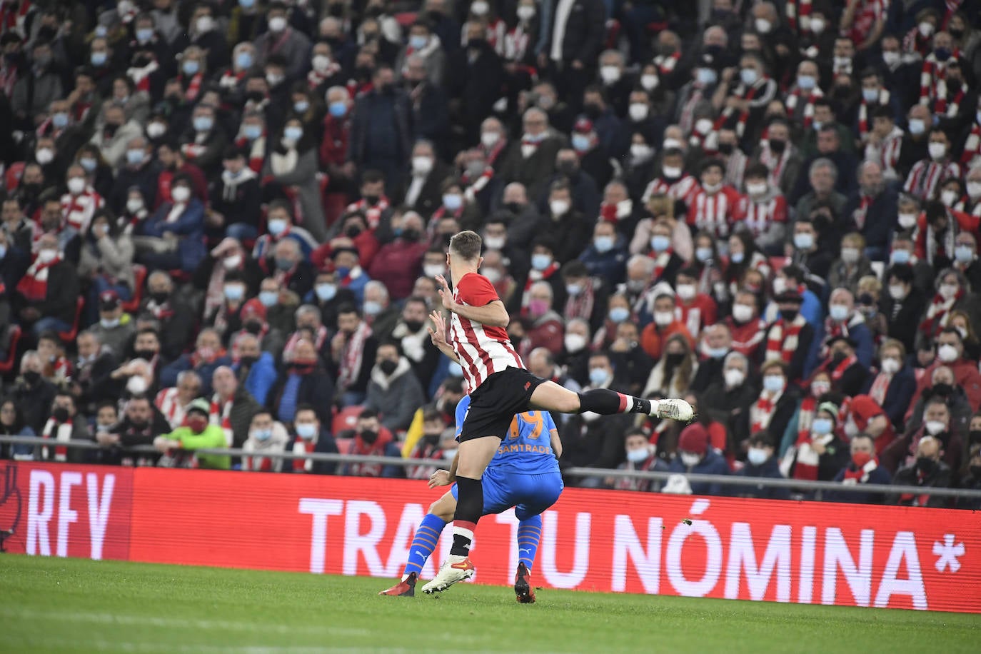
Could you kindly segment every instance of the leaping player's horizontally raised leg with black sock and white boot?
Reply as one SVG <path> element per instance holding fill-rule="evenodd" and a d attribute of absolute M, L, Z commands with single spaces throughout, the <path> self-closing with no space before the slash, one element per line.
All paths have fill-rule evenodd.
<path fill-rule="evenodd" d="M 529 408 L 569 414 L 592 411 L 604 416 L 639 413 L 683 422 L 695 417 L 692 405 L 685 400 L 645 400 L 608 388 L 593 388 L 576 393 L 551 380 L 543 381 L 535 388 Z"/>

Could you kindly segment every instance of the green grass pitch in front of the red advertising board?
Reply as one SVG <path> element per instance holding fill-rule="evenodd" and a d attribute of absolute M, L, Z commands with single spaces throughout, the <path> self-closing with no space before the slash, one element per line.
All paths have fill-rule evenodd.
<path fill-rule="evenodd" d="M 0 554 L 3 652 L 977 652 L 981 618 Z"/>

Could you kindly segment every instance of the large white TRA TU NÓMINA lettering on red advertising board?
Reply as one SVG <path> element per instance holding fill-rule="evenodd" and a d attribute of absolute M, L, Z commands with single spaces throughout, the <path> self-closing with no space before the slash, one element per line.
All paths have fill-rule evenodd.
<path fill-rule="evenodd" d="M 387 544 L 383 543 L 387 515 L 379 503 L 306 497 L 299 501 L 299 513 L 312 517 L 310 572 L 325 572 L 329 518 L 343 516 L 342 520 L 334 520 L 330 524 L 330 528 L 343 529 L 340 538 L 335 535 L 337 540 L 343 542 L 341 572 L 344 575 L 357 575 L 360 557 L 364 559 L 369 575 L 397 577 L 407 560 L 409 545 L 424 509 L 420 504 L 404 505 L 391 540 L 387 562 L 382 561 L 379 553 L 380 546 Z M 365 533 L 360 531 L 362 517 L 369 522 Z M 592 518 L 591 513 L 577 513 L 575 533 L 561 534 L 563 540 L 574 544 L 572 567 L 562 572 L 556 566 L 556 544 L 559 540 L 557 513 L 550 510 L 542 515 L 541 565 L 537 568 L 551 586 L 575 588 L 585 580 L 591 558 Z M 517 561 L 515 536 L 518 521 L 513 511 L 496 516 L 496 521 L 511 526 L 510 561 Z M 842 529 L 837 527 L 803 527 L 795 534 L 790 525 L 775 525 L 769 533 L 754 535 L 749 523 L 736 522 L 732 523 L 727 538 L 707 520 L 695 520 L 692 526 L 679 524 L 668 531 L 662 531 L 663 520 L 659 517 L 649 517 L 646 523 L 644 526 L 643 520 L 638 520 L 635 524 L 635 520 L 626 515 L 614 517 L 612 547 L 608 550 L 600 548 L 611 550 L 612 565 L 610 568 L 605 565 L 597 567 L 598 570 L 610 571 L 610 587 L 614 591 L 626 590 L 628 568 L 632 568 L 645 592 L 651 594 L 702 597 L 716 591 L 721 581 L 722 596 L 731 599 L 762 600 L 767 596 L 768 589 L 773 588 L 773 597 L 778 602 L 836 604 L 843 603 L 845 598 L 839 595 L 844 591 L 851 593 L 854 604 L 858 606 L 887 607 L 893 596 L 904 596 L 913 608 L 928 608 L 912 531 L 893 534 L 885 568 L 878 579 L 873 579 L 874 529 L 861 529 L 858 551 L 852 553 Z M 823 559 L 817 560 L 817 544 L 821 535 Z M 435 553 L 430 557 L 423 569 L 423 578 L 432 577 L 434 559 L 441 561 L 445 558 L 449 540 L 444 533 L 440 538 L 439 557 Z M 664 540 L 667 542 L 663 543 Z M 701 541 L 707 557 L 697 570 L 685 564 L 685 545 L 693 540 Z M 662 587 L 662 569 L 669 588 Z M 904 570 L 904 576 L 901 576 L 901 570 Z M 846 581 L 847 590 L 838 583 L 840 575 Z M 792 587 L 797 588 L 796 596 L 792 595 Z M 818 593 L 817 597 L 815 592 Z"/>

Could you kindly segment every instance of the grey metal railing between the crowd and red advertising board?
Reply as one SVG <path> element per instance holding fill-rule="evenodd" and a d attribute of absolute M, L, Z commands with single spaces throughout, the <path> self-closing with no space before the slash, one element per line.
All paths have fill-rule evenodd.
<path fill-rule="evenodd" d="M 0 443 L 20 444 L 53 447 L 55 445 L 86 449 L 86 450 L 109 450 L 119 449 L 131 454 L 159 454 L 151 445 L 137 445 L 132 447 L 111 446 L 106 447 L 91 440 L 68 440 L 55 441 L 50 438 L 39 438 L 36 436 L 4 436 L 0 435 Z M 386 466 L 396 466 L 407 468 L 409 466 L 434 466 L 437 468 L 448 468 L 449 462 L 445 459 L 404 459 L 401 457 L 370 456 L 362 454 L 328 454 L 320 452 L 297 454 L 286 450 L 283 452 L 246 452 L 234 448 L 207 448 L 194 450 L 195 454 L 207 454 L 218 456 L 233 457 L 255 457 L 261 456 L 267 459 L 309 459 L 311 461 L 324 461 L 328 463 L 368 463 L 382 464 Z M 764 478 L 764 477 L 737 477 L 735 475 L 699 475 L 697 473 L 667 473 L 654 471 L 634 471 L 634 470 L 612 470 L 602 468 L 565 468 L 562 474 L 566 477 L 576 478 L 633 478 L 648 479 L 654 481 L 667 481 L 669 478 L 681 475 L 689 482 L 697 483 L 719 483 L 728 487 L 732 486 L 764 486 L 775 488 L 789 488 L 800 492 L 815 491 L 836 491 L 849 493 L 872 493 L 872 494 L 928 494 L 936 497 L 955 497 L 961 499 L 981 499 L 981 490 L 966 490 L 962 488 L 934 488 L 923 486 L 900 486 L 884 485 L 871 483 L 856 483 L 846 485 L 835 481 L 805 481 L 801 479 L 786 478 Z"/>

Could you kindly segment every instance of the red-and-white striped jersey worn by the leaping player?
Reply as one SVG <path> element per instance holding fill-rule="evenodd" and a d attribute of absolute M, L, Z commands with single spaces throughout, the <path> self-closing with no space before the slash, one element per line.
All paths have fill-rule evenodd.
<path fill-rule="evenodd" d="M 487 277 L 467 273 L 453 288 L 453 299 L 464 306 L 485 307 L 500 298 Z M 504 327 L 488 327 L 454 313 L 449 319 L 449 338 L 463 368 L 468 393 L 494 373 L 525 368 Z"/>

